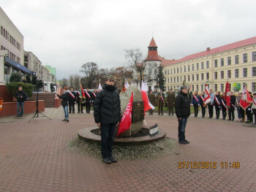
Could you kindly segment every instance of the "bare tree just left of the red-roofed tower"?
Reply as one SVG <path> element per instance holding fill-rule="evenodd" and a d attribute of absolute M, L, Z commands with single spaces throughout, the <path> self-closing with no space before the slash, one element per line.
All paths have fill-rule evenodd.
<path fill-rule="evenodd" d="M 125 58 L 128 59 L 132 69 L 140 73 L 140 82 L 143 80 L 143 70 L 145 69 L 145 63 L 143 62 L 143 54 L 140 48 L 133 48 L 130 50 L 124 50 Z"/>

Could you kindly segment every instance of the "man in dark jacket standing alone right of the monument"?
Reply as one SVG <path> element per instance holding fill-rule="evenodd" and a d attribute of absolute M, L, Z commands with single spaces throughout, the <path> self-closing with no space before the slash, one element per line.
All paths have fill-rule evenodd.
<path fill-rule="evenodd" d="M 181 87 L 181 91 L 178 93 L 178 96 L 176 96 L 175 112 L 178 118 L 178 142 L 181 144 L 189 144 L 189 141 L 185 139 L 187 118 L 189 118 L 190 115 L 190 100 L 186 85 Z"/>

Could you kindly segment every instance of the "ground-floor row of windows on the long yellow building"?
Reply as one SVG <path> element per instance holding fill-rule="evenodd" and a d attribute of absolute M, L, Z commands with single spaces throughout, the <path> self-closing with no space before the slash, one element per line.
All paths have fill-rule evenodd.
<path fill-rule="evenodd" d="M 245 86 L 246 86 L 246 83 L 244 82 L 243 84 L 243 87 L 241 88 L 241 91 L 244 90 Z M 199 89 L 199 86 L 200 86 L 200 89 Z M 166 86 L 165 89 L 166 90 L 170 90 L 170 89 L 176 89 L 176 88 L 180 88 L 180 86 L 176 86 L 176 85 L 173 85 L 173 86 Z M 231 89 L 231 84 L 230 84 L 230 89 Z M 220 84 L 220 86 L 218 87 L 218 84 L 214 84 L 214 91 L 221 91 L 221 92 L 224 92 L 225 91 L 225 84 L 222 83 Z M 205 91 L 205 84 L 202 84 L 202 85 L 192 85 L 191 86 L 191 91 Z M 252 82 L 252 92 L 256 92 L 256 82 Z"/>

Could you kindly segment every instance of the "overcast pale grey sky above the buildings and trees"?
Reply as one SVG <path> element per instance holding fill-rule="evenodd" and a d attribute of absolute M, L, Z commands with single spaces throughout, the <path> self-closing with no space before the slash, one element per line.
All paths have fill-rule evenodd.
<path fill-rule="evenodd" d="M 255 37 L 255 0 L 0 0 L 24 37 L 24 49 L 57 78 L 78 74 L 89 61 L 100 68 L 128 65 L 124 49 L 146 56 L 153 36 L 166 59 Z"/>

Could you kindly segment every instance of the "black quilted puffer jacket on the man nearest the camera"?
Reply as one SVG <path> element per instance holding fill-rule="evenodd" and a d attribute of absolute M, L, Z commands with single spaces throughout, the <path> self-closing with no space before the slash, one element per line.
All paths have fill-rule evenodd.
<path fill-rule="evenodd" d="M 105 84 L 94 101 L 95 123 L 109 124 L 121 120 L 119 93 L 114 85 Z"/>

